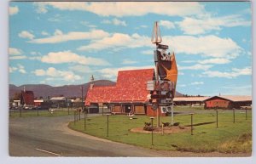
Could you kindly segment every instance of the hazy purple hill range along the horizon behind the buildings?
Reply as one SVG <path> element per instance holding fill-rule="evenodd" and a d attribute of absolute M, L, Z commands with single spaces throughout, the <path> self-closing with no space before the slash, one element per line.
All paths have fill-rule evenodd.
<path fill-rule="evenodd" d="M 115 82 L 108 81 L 108 80 L 98 80 L 94 82 L 95 86 L 114 86 Z M 90 87 L 90 82 L 80 84 L 80 85 L 64 85 L 60 87 L 52 87 L 45 84 L 26 84 L 22 86 L 15 86 L 13 84 L 9 84 L 9 98 L 13 98 L 15 93 L 20 93 L 23 88 L 26 90 L 33 91 L 35 97 L 43 97 L 46 98 L 54 97 L 54 96 L 65 96 L 67 98 L 72 97 L 81 97 L 81 86 L 84 86 L 84 95 L 87 93 L 88 88 Z M 182 93 L 176 92 L 176 97 L 182 97 Z"/>

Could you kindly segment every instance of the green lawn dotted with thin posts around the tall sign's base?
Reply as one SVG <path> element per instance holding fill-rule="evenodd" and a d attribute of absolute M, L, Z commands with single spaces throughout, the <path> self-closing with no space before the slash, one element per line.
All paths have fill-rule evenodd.
<path fill-rule="evenodd" d="M 151 145 L 151 134 L 131 133 L 129 129 L 143 127 L 144 122 L 150 122 L 148 116 L 136 116 L 130 120 L 128 116 L 109 116 L 109 136 L 107 137 L 107 116 L 87 118 L 86 130 L 84 119 L 69 123 L 69 127 L 99 138 L 120 143 L 134 144 L 155 150 L 181 150 L 193 152 L 251 152 L 252 151 L 252 115 L 247 111 L 247 120 L 242 110 L 236 110 L 236 123 L 233 123 L 233 113 L 230 110 L 218 111 L 218 128 L 216 128 L 216 112 L 195 114 L 194 124 L 214 122 L 194 127 L 194 135 L 189 132 L 172 134 L 154 134 L 154 146 Z M 190 115 L 174 116 L 175 122 L 181 125 L 190 124 Z M 160 122 L 171 122 L 171 117 L 161 117 Z M 156 125 L 156 119 L 154 119 Z"/>

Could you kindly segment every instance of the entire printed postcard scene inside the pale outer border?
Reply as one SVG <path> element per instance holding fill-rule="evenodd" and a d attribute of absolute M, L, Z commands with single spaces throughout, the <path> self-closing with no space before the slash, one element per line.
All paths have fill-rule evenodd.
<path fill-rule="evenodd" d="M 252 156 L 251 2 L 9 2 L 9 156 Z"/>

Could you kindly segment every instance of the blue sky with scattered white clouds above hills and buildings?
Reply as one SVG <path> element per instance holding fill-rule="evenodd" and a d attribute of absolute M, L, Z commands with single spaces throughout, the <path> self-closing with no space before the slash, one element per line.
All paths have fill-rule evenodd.
<path fill-rule="evenodd" d="M 12 2 L 9 83 L 115 81 L 119 70 L 152 68 L 157 20 L 176 54 L 178 92 L 251 95 L 251 16 L 249 2 Z"/>

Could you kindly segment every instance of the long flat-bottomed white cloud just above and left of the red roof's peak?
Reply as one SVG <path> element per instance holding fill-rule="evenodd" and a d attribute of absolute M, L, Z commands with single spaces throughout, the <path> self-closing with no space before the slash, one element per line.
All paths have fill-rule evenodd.
<path fill-rule="evenodd" d="M 51 52 L 44 55 L 41 59 L 44 63 L 60 64 L 60 63 L 78 63 L 81 65 L 110 65 L 104 59 L 85 57 L 74 54 L 71 51 Z"/>

